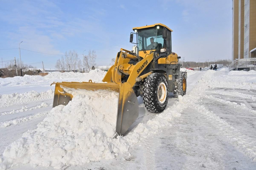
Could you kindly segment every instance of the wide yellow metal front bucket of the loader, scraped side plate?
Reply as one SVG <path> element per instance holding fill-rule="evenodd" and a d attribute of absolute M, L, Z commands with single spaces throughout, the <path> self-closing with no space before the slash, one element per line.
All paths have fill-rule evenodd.
<path fill-rule="evenodd" d="M 53 107 L 58 105 L 67 105 L 72 100 L 73 95 L 76 95 L 78 89 L 88 91 L 107 90 L 109 92 L 118 92 L 118 110 L 115 117 L 116 135 L 123 135 L 127 132 L 129 127 L 139 116 L 139 105 L 137 97 L 129 82 L 122 83 L 120 85 L 110 83 L 92 83 L 92 82 L 62 82 L 55 84 L 55 93 L 53 100 Z M 72 94 L 70 93 L 72 91 Z M 115 137 L 113 136 L 113 137 Z"/>

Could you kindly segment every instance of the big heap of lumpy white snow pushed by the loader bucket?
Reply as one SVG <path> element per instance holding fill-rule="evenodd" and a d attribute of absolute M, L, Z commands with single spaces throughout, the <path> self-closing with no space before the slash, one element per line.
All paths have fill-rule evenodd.
<path fill-rule="evenodd" d="M 117 105 L 116 92 L 75 96 L 68 105 L 53 108 L 37 129 L 6 147 L 4 165 L 9 168 L 30 163 L 59 169 L 67 164 L 115 158 L 129 149 L 123 138 L 112 138 Z"/>

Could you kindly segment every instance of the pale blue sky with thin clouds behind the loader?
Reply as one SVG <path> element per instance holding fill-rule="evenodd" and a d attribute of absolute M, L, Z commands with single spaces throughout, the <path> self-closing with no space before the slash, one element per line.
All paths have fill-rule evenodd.
<path fill-rule="evenodd" d="M 185 61 L 231 56 L 232 2 L 223 0 L 70 1 L 0 0 L 0 49 L 20 48 L 63 55 L 95 50 L 109 65 L 120 48 L 132 49 L 133 27 L 162 23 L 173 30 L 172 50 Z M 25 64 L 55 68 L 61 56 L 21 50 Z M 0 61 L 19 51 L 0 50 Z M 79 56 L 82 59 L 82 55 Z M 41 65 L 36 65 L 41 68 Z"/>

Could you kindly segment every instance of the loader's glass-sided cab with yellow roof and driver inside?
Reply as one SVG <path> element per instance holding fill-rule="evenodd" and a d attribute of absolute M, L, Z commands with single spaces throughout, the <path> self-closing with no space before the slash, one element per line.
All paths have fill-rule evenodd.
<path fill-rule="evenodd" d="M 133 28 L 136 34 L 136 53 L 141 57 L 150 54 L 151 51 L 158 53 L 172 51 L 171 32 L 172 30 L 164 24 L 154 24 L 143 27 Z M 132 35 L 132 34 L 131 34 Z M 130 38 L 131 42 L 131 38 Z M 162 49 L 162 50 L 161 50 Z"/>

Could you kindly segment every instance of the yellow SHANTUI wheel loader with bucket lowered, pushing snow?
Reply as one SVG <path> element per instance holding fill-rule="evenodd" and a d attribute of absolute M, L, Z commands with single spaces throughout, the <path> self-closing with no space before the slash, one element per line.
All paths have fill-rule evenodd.
<path fill-rule="evenodd" d="M 107 71 L 103 82 L 62 82 L 55 84 L 53 107 L 67 105 L 72 94 L 65 89 L 118 92 L 115 134 L 123 135 L 139 115 L 138 96 L 143 97 L 145 108 L 152 113 L 163 112 L 169 97 L 186 94 L 187 72 L 180 71 L 180 57 L 172 51 L 172 30 L 164 24 L 133 28 L 130 43 L 135 50 L 122 49 L 115 63 Z M 136 42 L 133 37 L 136 36 Z"/>

